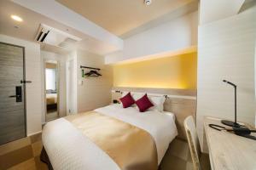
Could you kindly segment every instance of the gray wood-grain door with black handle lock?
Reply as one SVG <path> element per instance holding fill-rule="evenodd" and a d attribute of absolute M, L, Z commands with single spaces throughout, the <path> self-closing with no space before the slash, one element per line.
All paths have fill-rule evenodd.
<path fill-rule="evenodd" d="M 0 42 L 0 144 L 26 137 L 24 48 Z"/>

